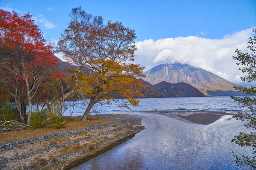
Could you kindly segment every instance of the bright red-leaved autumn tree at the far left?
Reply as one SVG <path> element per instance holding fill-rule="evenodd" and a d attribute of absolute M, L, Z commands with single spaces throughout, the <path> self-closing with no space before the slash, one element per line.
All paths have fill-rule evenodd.
<path fill-rule="evenodd" d="M 20 112 L 19 86 L 24 87 L 28 102 L 28 121 L 32 113 L 34 98 L 41 80 L 51 72 L 52 64 L 57 59 L 52 58 L 53 47 L 47 45 L 42 31 L 31 19 L 31 15 L 18 16 L 14 11 L 0 10 L 0 50 L 1 68 L 5 71 L 2 82 L 14 84 L 14 89 L 5 88 L 14 96 L 15 104 Z"/>

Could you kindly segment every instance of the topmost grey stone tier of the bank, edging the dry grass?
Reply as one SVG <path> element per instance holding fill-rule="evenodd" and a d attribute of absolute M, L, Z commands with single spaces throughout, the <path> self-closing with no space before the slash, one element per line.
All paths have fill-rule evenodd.
<path fill-rule="evenodd" d="M 8 150 L 8 149 L 13 149 L 15 147 L 22 147 L 22 146 L 30 145 L 33 143 L 42 142 L 42 141 L 44 141 L 46 139 L 50 139 L 52 137 L 70 136 L 70 135 L 74 135 L 79 132 L 85 132 L 85 131 L 92 130 L 92 129 L 101 129 L 104 127 L 114 126 L 114 125 L 122 125 L 125 123 L 127 123 L 127 120 L 114 121 L 114 122 L 110 122 L 110 123 L 102 123 L 99 125 L 88 126 L 88 127 L 82 128 L 82 129 L 75 129 L 75 130 L 64 131 L 64 132 L 56 132 L 56 133 L 51 133 L 49 135 L 44 135 L 44 136 L 40 136 L 40 137 L 33 137 L 33 138 L 19 140 L 19 141 L 6 142 L 6 143 L 0 144 L 0 152 L 2 150 Z"/>

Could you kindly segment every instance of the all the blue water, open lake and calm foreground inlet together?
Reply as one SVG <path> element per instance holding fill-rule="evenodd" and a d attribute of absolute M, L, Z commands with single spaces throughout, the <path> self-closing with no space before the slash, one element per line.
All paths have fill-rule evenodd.
<path fill-rule="evenodd" d="M 232 163 L 232 151 L 243 154 L 251 152 L 249 147 L 240 147 L 231 142 L 234 135 L 247 130 L 243 122 L 234 120 L 231 115 L 224 115 L 210 125 L 201 125 L 143 112 L 204 110 L 236 113 L 238 107 L 229 97 L 140 99 L 140 106 L 137 107 L 124 109 L 117 106 L 98 107 L 98 113 L 138 115 L 146 129 L 72 170 L 234 170 L 240 168 Z M 73 115 L 81 115 L 83 111 L 78 106 Z"/>

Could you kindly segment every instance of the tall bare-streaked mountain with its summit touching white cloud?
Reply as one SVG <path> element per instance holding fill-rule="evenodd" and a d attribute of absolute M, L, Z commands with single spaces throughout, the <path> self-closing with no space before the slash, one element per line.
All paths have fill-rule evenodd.
<path fill-rule="evenodd" d="M 188 83 L 205 95 L 211 96 L 236 96 L 242 95 L 234 90 L 238 84 L 232 83 L 212 72 L 196 68 L 188 64 L 160 64 L 144 72 L 146 78 L 143 80 L 157 84 L 160 82 Z"/>

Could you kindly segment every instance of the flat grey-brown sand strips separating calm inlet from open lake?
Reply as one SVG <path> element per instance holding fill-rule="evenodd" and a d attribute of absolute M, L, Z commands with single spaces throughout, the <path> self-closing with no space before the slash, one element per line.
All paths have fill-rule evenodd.
<path fill-rule="evenodd" d="M 179 119 L 180 121 L 189 121 L 192 123 L 198 123 L 202 125 L 209 125 L 214 123 L 216 120 L 220 119 L 223 115 L 235 115 L 232 113 L 226 113 L 224 111 L 140 111 L 144 113 L 155 113 L 166 115 L 174 119 Z M 122 120 L 127 120 L 133 125 L 141 125 L 141 118 L 136 115 L 130 114 L 97 114 L 92 115 L 93 117 L 99 118 L 118 118 Z"/>

